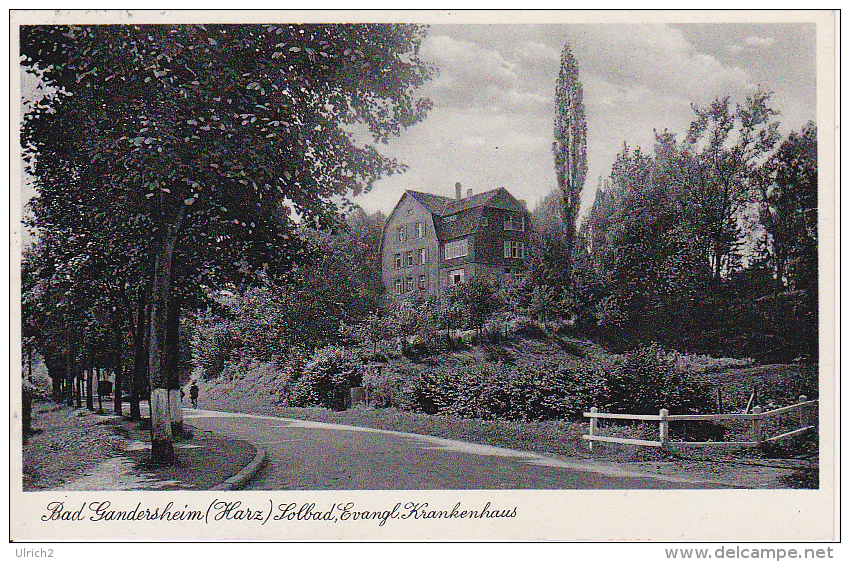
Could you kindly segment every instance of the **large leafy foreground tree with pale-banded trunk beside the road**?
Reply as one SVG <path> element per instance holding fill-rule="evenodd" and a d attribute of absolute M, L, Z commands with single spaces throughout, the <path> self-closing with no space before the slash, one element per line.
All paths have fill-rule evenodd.
<path fill-rule="evenodd" d="M 301 259 L 297 218 L 335 223 L 333 197 L 402 169 L 346 125 L 362 122 L 385 142 L 424 118 L 430 103 L 412 95 L 431 73 L 418 58 L 423 36 L 412 25 L 22 30 L 23 64 L 59 92 L 29 114 L 25 151 L 41 158 L 51 132 L 78 133 L 63 148 L 79 169 L 98 170 L 85 189 L 151 240 L 155 460 L 173 459 L 164 337 L 175 255 L 213 287 L 274 278 Z"/>

